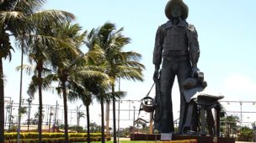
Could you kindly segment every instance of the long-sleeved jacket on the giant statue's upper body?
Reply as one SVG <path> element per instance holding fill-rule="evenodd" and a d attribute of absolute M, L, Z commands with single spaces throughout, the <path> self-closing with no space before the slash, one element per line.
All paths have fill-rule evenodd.
<path fill-rule="evenodd" d="M 190 60 L 197 62 L 198 57 L 191 58 L 193 53 L 199 56 L 198 35 L 195 26 L 180 19 L 179 24 L 172 24 L 171 20 L 157 29 L 153 64 L 160 66 L 165 60 Z"/>

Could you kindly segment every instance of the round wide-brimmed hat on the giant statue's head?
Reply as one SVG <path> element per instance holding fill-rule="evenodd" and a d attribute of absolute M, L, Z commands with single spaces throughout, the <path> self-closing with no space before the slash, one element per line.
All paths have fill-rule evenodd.
<path fill-rule="evenodd" d="M 172 19 L 171 9 L 173 4 L 179 4 L 182 8 L 181 19 L 187 19 L 189 15 L 189 7 L 182 0 L 169 0 L 165 7 L 165 15 L 168 19 Z"/>

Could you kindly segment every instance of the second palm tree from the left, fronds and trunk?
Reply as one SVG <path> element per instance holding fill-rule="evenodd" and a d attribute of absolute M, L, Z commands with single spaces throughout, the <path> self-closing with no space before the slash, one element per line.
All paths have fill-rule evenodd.
<path fill-rule="evenodd" d="M 31 72 L 34 73 L 32 76 L 32 80 L 29 83 L 29 89 L 27 93 L 31 98 L 35 98 L 35 93 L 38 92 L 39 96 L 39 124 L 38 124 L 38 131 L 39 131 L 39 140 L 41 142 L 41 126 L 42 126 L 42 90 L 49 90 L 51 89 L 51 77 L 47 77 L 51 74 L 51 69 L 48 69 L 50 66 L 50 54 L 49 50 L 51 50 L 52 46 L 55 45 L 67 45 L 71 46 L 69 43 L 58 39 L 56 37 L 52 37 L 56 24 L 44 24 L 44 25 L 37 25 L 34 31 L 34 34 L 30 34 L 29 38 L 25 40 L 25 53 L 28 55 L 29 63 L 31 66 L 19 66 L 18 69 L 24 68 L 26 72 L 31 75 Z M 50 37 L 49 40 L 42 41 L 40 40 L 41 36 L 48 36 Z M 33 66 L 35 64 L 35 67 Z"/>

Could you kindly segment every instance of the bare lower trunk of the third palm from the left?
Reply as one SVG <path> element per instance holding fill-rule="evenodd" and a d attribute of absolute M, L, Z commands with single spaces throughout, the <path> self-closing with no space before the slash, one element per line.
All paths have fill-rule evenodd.
<path fill-rule="evenodd" d="M 68 143 L 68 133 L 67 133 L 67 91 L 65 82 L 62 82 L 62 92 L 63 92 L 63 104 L 64 104 L 64 130 L 65 130 L 65 143 Z"/>

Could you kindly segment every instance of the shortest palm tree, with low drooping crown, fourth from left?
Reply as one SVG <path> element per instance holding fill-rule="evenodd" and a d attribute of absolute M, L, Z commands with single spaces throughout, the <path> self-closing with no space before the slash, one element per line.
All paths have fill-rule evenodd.
<path fill-rule="evenodd" d="M 89 105 L 93 102 L 93 98 L 98 97 L 97 95 L 99 95 L 99 93 L 104 93 L 107 89 L 109 89 L 109 77 L 102 72 L 102 69 L 100 69 L 99 66 L 91 64 L 93 56 L 90 54 L 90 52 L 91 51 L 85 54 L 88 62 L 84 66 L 88 66 L 88 72 L 94 72 L 93 76 L 76 76 L 74 79 L 77 82 L 72 82 L 72 84 L 70 85 L 70 91 L 68 96 L 70 100 L 77 100 L 78 98 L 81 99 L 83 101 L 84 106 L 86 107 L 88 122 L 88 142 L 91 141 Z M 102 103 L 101 105 L 103 108 L 104 104 Z M 102 116 L 102 118 L 104 119 L 104 115 Z M 104 142 L 104 121 L 102 122 L 102 141 Z"/>

